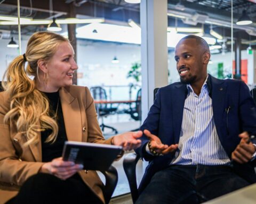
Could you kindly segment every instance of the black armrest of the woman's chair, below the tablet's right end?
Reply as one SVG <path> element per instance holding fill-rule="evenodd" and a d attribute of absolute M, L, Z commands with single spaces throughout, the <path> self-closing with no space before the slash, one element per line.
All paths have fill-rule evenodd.
<path fill-rule="evenodd" d="M 103 189 L 104 199 L 106 203 L 109 203 L 118 180 L 117 170 L 114 166 L 110 166 L 108 171 L 101 171 L 101 173 L 106 178 L 106 184 Z"/>

